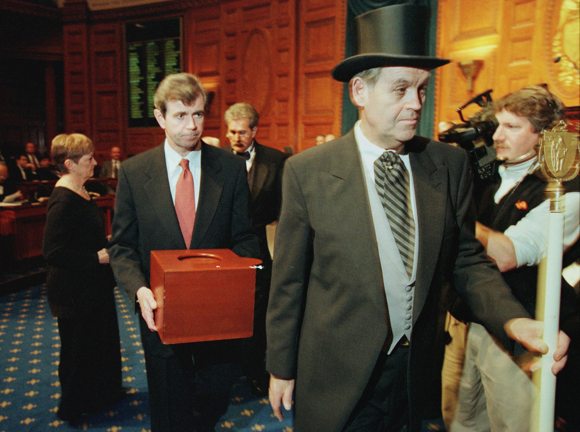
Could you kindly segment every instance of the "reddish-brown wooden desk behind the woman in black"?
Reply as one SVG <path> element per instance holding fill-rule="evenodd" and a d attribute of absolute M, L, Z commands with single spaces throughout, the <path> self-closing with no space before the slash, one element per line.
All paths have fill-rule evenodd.
<path fill-rule="evenodd" d="M 94 200 L 103 210 L 105 229 L 109 235 L 115 196 L 99 196 Z M 7 246 L 8 258 L 21 261 L 41 256 L 45 224 L 46 203 L 0 207 L 0 241 Z"/>

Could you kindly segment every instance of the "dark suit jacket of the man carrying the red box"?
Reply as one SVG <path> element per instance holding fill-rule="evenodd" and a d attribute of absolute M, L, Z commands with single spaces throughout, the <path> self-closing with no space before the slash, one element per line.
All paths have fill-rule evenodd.
<path fill-rule="evenodd" d="M 201 184 L 191 249 L 227 248 L 259 257 L 248 208 L 244 160 L 202 143 Z M 169 190 L 164 146 L 125 160 L 119 169 L 111 266 L 131 301 L 149 287 L 150 252 L 186 249 Z"/>

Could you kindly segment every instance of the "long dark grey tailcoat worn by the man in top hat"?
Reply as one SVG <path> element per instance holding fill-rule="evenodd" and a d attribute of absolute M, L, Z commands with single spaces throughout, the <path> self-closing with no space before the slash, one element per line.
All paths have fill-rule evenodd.
<path fill-rule="evenodd" d="M 503 324 L 527 313 L 474 237 L 467 153 L 415 137 L 406 145 L 419 251 L 408 391 L 420 430 L 445 289 L 506 345 Z M 340 431 L 391 332 L 367 186 L 354 133 L 288 159 L 267 315 L 267 365 L 296 378 L 295 431 Z M 440 374 L 440 371 L 438 372 Z"/>

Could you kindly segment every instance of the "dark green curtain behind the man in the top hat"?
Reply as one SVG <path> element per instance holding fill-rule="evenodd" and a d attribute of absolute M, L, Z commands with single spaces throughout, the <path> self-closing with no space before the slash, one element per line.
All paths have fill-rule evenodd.
<path fill-rule="evenodd" d="M 345 58 L 353 56 L 355 49 L 354 36 L 354 17 L 389 5 L 402 5 L 404 3 L 413 3 L 415 5 L 429 6 L 431 9 L 431 21 L 429 28 L 429 54 L 435 56 L 436 39 L 437 39 L 437 0 L 348 0 L 346 12 L 346 50 Z M 433 137 L 433 105 L 435 101 L 434 79 L 427 88 L 427 98 L 425 106 L 422 109 L 421 120 L 417 127 L 417 134 L 423 137 Z M 345 83 L 343 87 L 342 103 L 342 134 L 351 130 L 358 120 L 358 110 L 350 102 L 349 85 Z"/>

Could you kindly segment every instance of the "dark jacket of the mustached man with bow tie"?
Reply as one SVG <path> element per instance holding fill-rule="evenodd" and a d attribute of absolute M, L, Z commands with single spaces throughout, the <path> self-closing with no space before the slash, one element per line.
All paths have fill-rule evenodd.
<path fill-rule="evenodd" d="M 254 141 L 255 156 L 252 163 L 250 209 L 254 233 L 260 240 L 262 261 L 271 261 L 266 225 L 278 220 L 282 204 L 282 171 L 288 155 Z M 231 146 L 227 149 L 233 153 Z"/>

